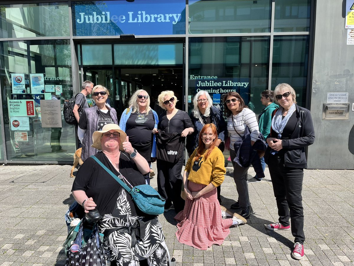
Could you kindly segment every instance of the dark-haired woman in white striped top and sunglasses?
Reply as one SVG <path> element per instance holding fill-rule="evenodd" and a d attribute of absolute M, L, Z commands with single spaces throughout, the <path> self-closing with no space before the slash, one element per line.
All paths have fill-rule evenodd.
<path fill-rule="evenodd" d="M 252 206 L 248 193 L 247 171 L 250 167 L 242 167 L 234 162 L 236 156 L 234 143 L 238 141 L 249 128 L 251 135 L 251 145 L 253 145 L 259 135 L 256 115 L 246 105 L 245 101 L 237 92 L 229 92 L 223 97 L 224 112 L 227 116 L 227 130 L 230 134 L 230 157 L 234 167 L 234 181 L 236 183 L 238 201 L 231 205 L 231 209 L 248 219 L 252 213 Z"/>

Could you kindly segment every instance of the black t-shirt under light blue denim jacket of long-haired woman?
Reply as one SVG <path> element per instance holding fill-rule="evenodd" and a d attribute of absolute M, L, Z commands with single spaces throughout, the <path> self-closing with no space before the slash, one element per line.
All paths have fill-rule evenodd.
<path fill-rule="evenodd" d="M 129 142 L 138 153 L 148 162 L 151 162 L 152 130 L 155 126 L 153 112 L 131 113 L 127 122 L 125 133 L 129 136 Z"/>

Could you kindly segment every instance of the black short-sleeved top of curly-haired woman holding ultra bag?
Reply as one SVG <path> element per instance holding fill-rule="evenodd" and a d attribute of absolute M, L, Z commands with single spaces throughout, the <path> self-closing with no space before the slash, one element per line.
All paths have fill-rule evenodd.
<path fill-rule="evenodd" d="M 163 112 L 158 124 L 158 129 L 165 133 L 182 133 L 184 129 L 189 127 L 194 128 L 192 120 L 186 112 L 181 110 L 178 110 L 171 120 L 167 118 L 166 112 Z"/>

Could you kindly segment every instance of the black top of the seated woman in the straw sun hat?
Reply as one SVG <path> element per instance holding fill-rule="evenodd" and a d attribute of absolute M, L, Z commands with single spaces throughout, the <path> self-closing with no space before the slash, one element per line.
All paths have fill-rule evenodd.
<path fill-rule="evenodd" d="M 95 156 L 116 176 L 119 175 L 103 152 L 99 152 Z M 136 164 L 131 161 L 129 155 L 125 152 L 120 153 L 119 172 L 133 187 L 145 184 L 144 176 L 139 172 Z M 129 184 L 128 187 L 130 187 Z M 86 159 L 84 164 L 80 167 L 72 187 L 72 191 L 84 190 L 87 197 L 92 197 L 93 201 L 97 204 L 96 209 L 101 215 L 112 214 L 114 212 L 117 199 L 123 189 L 124 188 L 91 157 Z M 128 194 L 127 198 L 130 203 L 132 215 L 147 216 L 147 214 L 144 214 L 135 207 L 130 194 Z"/>

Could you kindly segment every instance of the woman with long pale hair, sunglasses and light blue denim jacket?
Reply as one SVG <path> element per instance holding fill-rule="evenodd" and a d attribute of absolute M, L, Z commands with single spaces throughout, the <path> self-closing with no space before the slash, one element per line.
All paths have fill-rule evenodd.
<path fill-rule="evenodd" d="M 119 127 L 129 136 L 129 142 L 139 154 L 151 165 L 156 157 L 156 137 L 152 134 L 157 127 L 159 118 L 150 108 L 150 97 L 145 90 L 137 90 L 129 100 L 129 107 L 120 117 Z M 152 170 L 150 170 L 152 172 Z M 145 181 L 150 184 L 149 173 L 145 174 Z"/>

